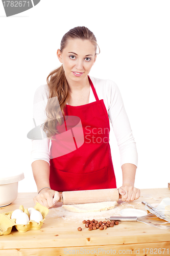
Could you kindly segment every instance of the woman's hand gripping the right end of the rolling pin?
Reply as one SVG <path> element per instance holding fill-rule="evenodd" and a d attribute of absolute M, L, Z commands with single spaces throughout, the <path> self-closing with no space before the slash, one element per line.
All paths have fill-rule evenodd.
<path fill-rule="evenodd" d="M 140 197 L 140 189 L 133 186 L 121 186 L 118 188 L 118 192 L 122 195 L 121 200 L 125 202 L 134 201 Z"/>

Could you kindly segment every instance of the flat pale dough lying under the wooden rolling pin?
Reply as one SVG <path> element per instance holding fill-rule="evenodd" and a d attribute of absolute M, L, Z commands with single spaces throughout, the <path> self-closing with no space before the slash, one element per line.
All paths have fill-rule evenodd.
<path fill-rule="evenodd" d="M 62 207 L 72 212 L 90 212 L 90 211 L 102 211 L 113 209 L 117 205 L 117 202 L 101 202 L 101 203 L 89 203 L 89 204 L 63 204 Z"/>

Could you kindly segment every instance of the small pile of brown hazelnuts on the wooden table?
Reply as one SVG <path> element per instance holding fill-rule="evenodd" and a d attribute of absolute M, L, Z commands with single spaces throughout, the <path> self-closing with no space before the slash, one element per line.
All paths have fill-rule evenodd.
<path fill-rule="evenodd" d="M 118 225 L 118 221 L 96 221 L 96 220 L 84 220 L 83 223 L 85 224 L 85 227 L 88 228 L 88 230 L 95 230 L 95 229 L 100 229 L 100 230 L 103 230 L 103 229 L 106 229 L 108 227 L 113 227 L 114 225 Z M 78 227 L 78 230 L 81 231 L 82 228 L 81 227 Z"/>

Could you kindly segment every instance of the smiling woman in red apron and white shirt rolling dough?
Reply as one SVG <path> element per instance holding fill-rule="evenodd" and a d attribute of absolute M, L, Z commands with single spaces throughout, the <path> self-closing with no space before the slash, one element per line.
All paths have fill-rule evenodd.
<path fill-rule="evenodd" d="M 34 118 L 39 119 L 39 123 L 47 117 L 43 126 L 47 138 L 34 140 L 32 150 L 32 170 L 38 189 L 34 202 L 48 208 L 59 200 L 58 191 L 116 188 L 109 119 L 119 146 L 123 172 L 119 193 L 123 201 L 140 197 L 140 190 L 134 187 L 136 144 L 119 90 L 110 80 L 88 76 L 96 60 L 97 46 L 94 34 L 86 27 L 69 30 L 57 50 L 61 67 L 51 72 L 47 85 L 39 87 L 35 93 L 34 102 L 52 100 L 46 104 L 45 111 L 43 108 L 34 110 Z M 53 101 L 56 97 L 58 105 Z M 68 154 L 55 157 L 59 150 L 55 136 L 71 131 L 62 130 L 66 118 L 70 117 L 81 120 L 84 143 Z M 73 138 L 76 141 L 76 134 Z"/>

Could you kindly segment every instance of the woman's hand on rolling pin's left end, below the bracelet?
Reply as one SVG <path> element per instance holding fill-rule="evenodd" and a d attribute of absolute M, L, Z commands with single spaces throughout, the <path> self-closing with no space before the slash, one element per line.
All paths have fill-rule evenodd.
<path fill-rule="evenodd" d="M 34 197 L 34 203 L 40 203 L 42 206 L 47 208 L 52 208 L 57 203 L 60 198 L 60 194 L 58 191 L 44 188 L 40 191 L 40 193 Z"/>

